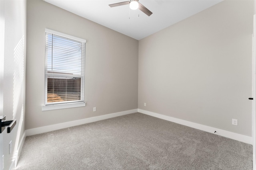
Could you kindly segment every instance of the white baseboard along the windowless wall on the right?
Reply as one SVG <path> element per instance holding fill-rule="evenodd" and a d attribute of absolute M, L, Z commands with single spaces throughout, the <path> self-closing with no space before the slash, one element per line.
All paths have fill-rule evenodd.
<path fill-rule="evenodd" d="M 214 127 L 201 125 L 201 124 L 198 124 L 198 123 L 193 123 L 193 122 L 182 120 L 182 119 L 177 119 L 177 118 L 174 118 L 174 117 L 161 115 L 161 114 L 158 114 L 158 113 L 154 113 L 154 112 L 146 111 L 146 110 L 142 110 L 142 109 L 138 109 L 138 112 L 146 114 L 146 115 L 150 115 L 150 116 L 153 116 L 153 117 L 158 117 L 160 119 L 164 119 L 164 120 L 167 120 L 167 121 L 172 121 L 174 123 L 178 123 L 178 124 L 181 124 L 181 125 L 185 125 L 185 126 L 188 126 L 188 127 L 195 128 L 195 129 L 199 129 L 199 130 L 202 130 L 202 131 L 206 131 L 206 132 L 209 132 L 209 133 L 214 133 L 214 131 L 216 131 L 216 133 L 214 133 L 216 135 L 220 135 L 220 136 L 223 136 L 223 137 L 234 139 L 236 141 L 240 141 L 240 142 L 244 142 L 244 143 L 248 143 L 250 145 L 253 145 L 252 144 L 252 137 L 249 137 L 249 136 L 240 135 L 238 133 L 233 133 L 233 132 L 225 131 L 225 130 L 222 130 L 222 129 L 217 129 L 217 128 L 214 128 Z"/>

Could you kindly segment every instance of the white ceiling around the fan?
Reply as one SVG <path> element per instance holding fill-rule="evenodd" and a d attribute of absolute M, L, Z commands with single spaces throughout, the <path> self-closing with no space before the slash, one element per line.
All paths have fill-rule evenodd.
<path fill-rule="evenodd" d="M 222 0 L 139 0 L 153 12 L 147 16 L 129 5 L 110 8 L 126 0 L 44 0 L 78 16 L 140 40 L 184 20 Z"/>

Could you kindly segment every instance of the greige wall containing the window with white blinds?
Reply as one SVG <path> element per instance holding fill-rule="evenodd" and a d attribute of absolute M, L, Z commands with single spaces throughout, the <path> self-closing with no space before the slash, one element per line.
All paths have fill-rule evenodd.
<path fill-rule="evenodd" d="M 86 107 L 42 111 L 45 28 L 86 39 Z M 47 2 L 28 1 L 27 47 L 26 129 L 138 108 L 137 40 Z"/>

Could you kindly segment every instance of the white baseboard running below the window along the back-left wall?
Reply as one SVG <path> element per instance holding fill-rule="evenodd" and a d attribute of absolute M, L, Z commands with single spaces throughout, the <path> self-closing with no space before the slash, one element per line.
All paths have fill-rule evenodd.
<path fill-rule="evenodd" d="M 91 123 L 94 121 L 100 121 L 100 120 L 109 119 L 112 117 L 118 117 L 118 116 L 130 114 L 130 113 L 136 113 L 136 112 L 138 112 L 138 109 L 132 109 L 132 110 L 121 111 L 121 112 L 117 112 L 117 113 L 111 113 L 111 114 L 107 114 L 107 115 L 101 115 L 101 116 L 90 117 L 90 118 L 86 118 L 86 119 L 80 119 L 80 120 L 75 120 L 75 121 L 59 123 L 59 124 L 55 124 L 55 125 L 38 127 L 38 128 L 34 128 L 34 129 L 28 129 L 28 130 L 26 130 L 26 135 L 27 136 L 36 135 L 36 134 L 40 134 L 40 133 L 55 131 L 58 129 L 64 129 L 67 127 L 82 125 L 82 124 Z"/>

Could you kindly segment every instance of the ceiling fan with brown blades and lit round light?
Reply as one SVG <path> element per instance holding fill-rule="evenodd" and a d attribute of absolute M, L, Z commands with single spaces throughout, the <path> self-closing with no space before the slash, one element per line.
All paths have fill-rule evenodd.
<path fill-rule="evenodd" d="M 130 8 L 132 10 L 136 10 L 139 8 L 142 12 L 144 12 L 146 15 L 150 16 L 153 14 L 148 8 L 140 4 L 139 0 L 130 0 L 130 1 L 125 1 L 125 2 L 118 2 L 115 4 L 109 4 L 110 7 L 115 7 L 115 6 L 122 6 L 122 5 L 128 5 L 130 4 Z"/>

